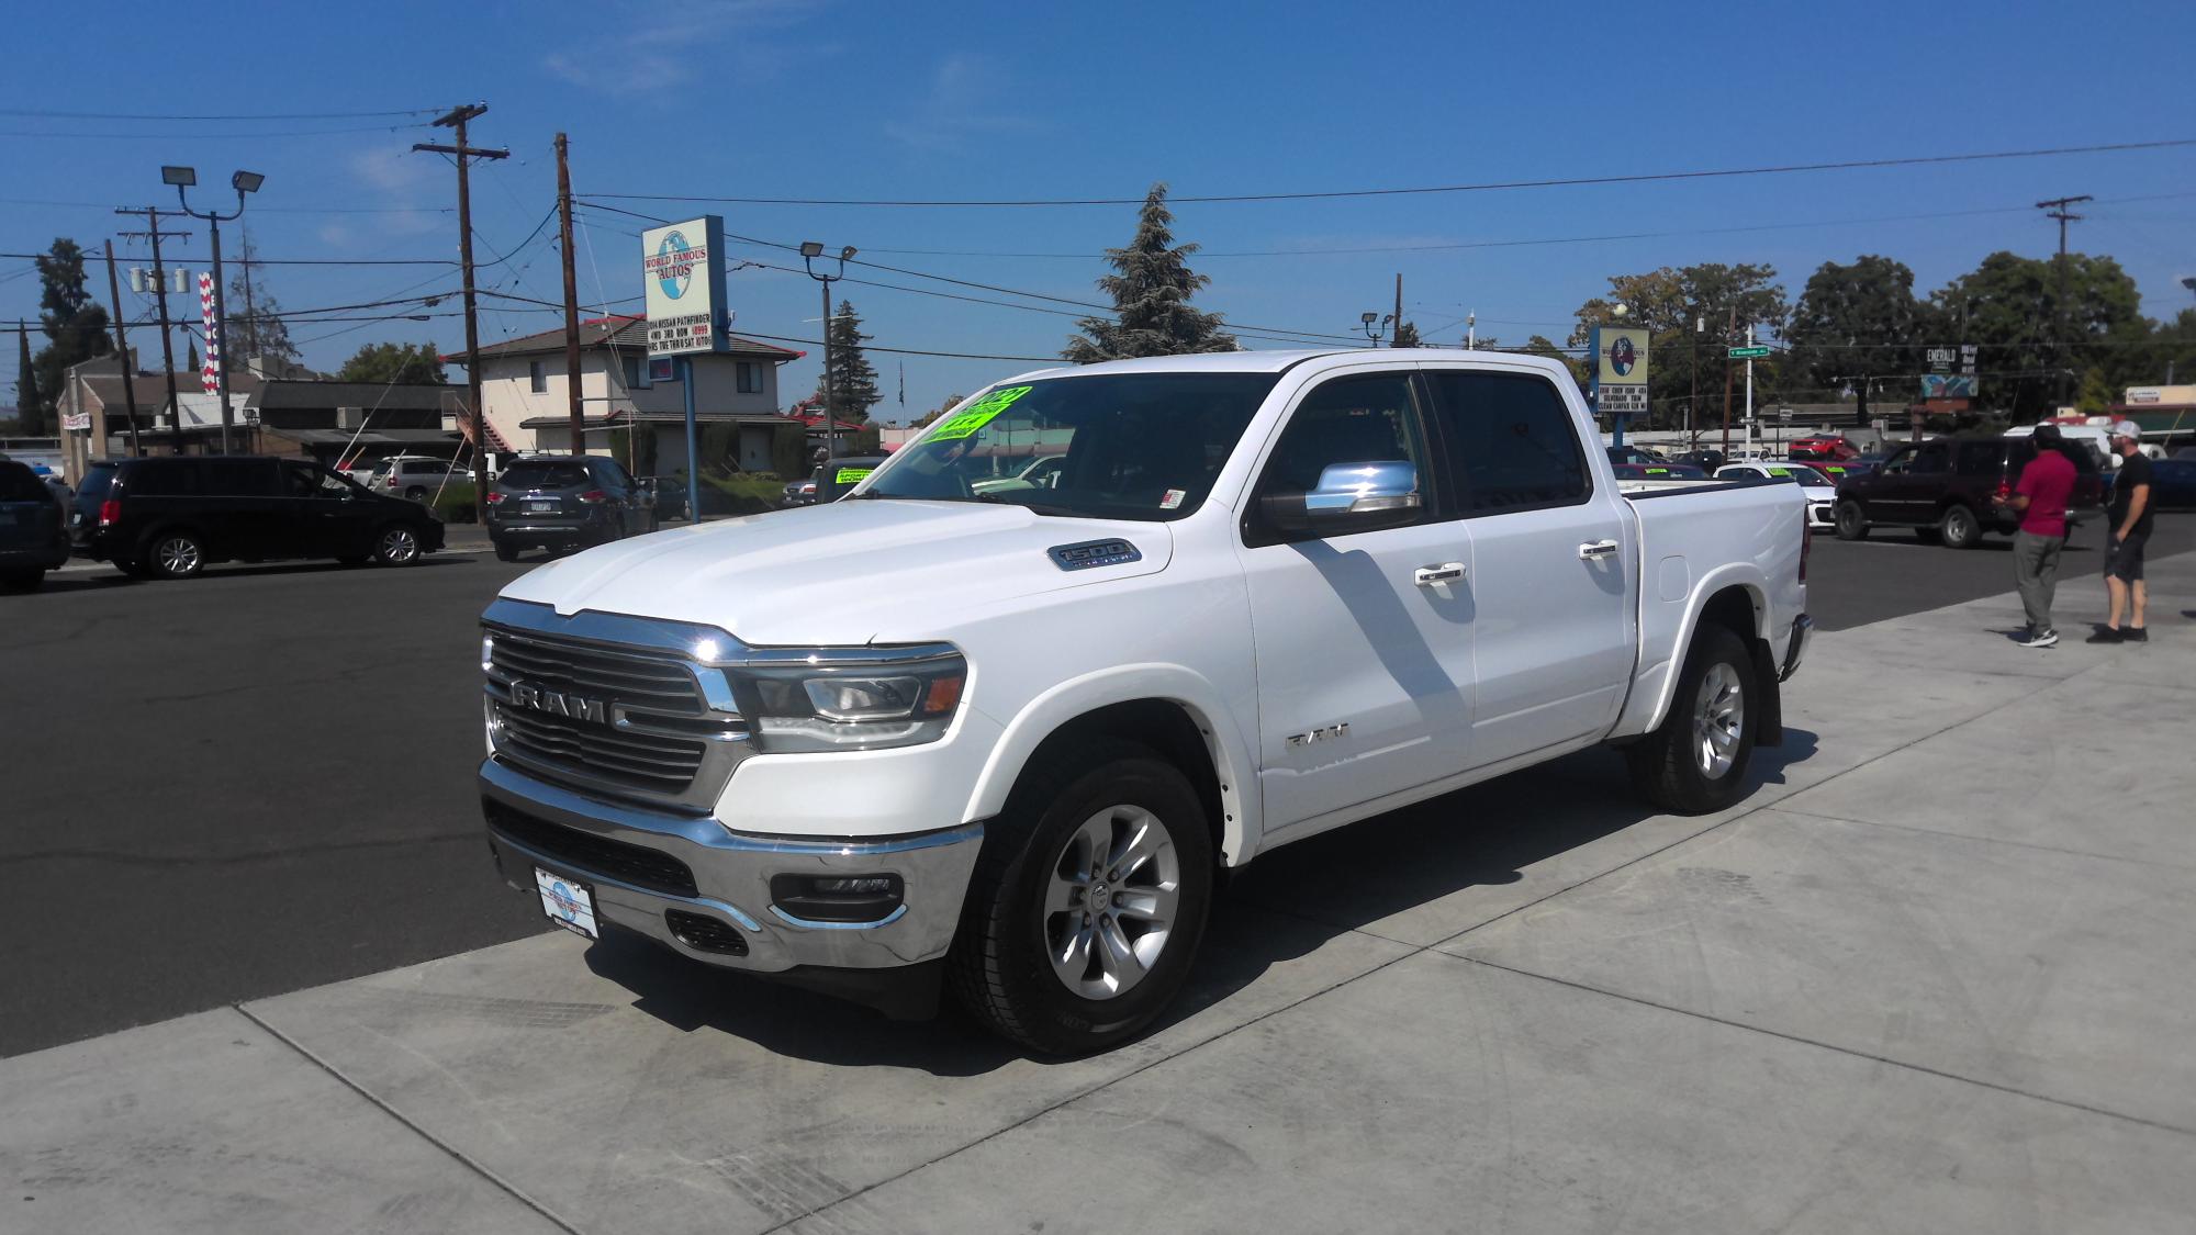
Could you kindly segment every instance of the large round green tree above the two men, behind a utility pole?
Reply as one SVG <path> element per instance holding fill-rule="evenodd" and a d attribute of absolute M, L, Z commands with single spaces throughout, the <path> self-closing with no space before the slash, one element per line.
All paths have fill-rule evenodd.
<path fill-rule="evenodd" d="M 2145 352 L 2154 347 L 2143 343 L 2152 338 L 2152 323 L 2141 314 L 2135 279 L 2119 262 L 2086 253 L 2069 253 L 2064 275 L 2064 312 L 2058 259 L 2016 253 L 1992 253 L 1930 294 L 1937 343 L 1981 349 L 1981 398 L 2016 424 L 2073 396 L 2084 369 L 2099 369 L 2108 385 L 2148 380 Z"/>

